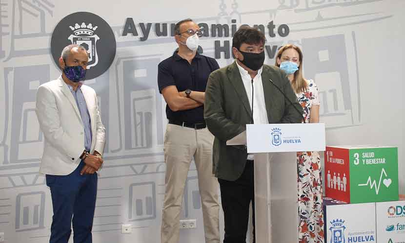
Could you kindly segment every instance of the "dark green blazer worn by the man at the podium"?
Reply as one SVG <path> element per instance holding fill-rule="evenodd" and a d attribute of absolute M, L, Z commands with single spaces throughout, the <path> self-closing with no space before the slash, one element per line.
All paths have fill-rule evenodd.
<path fill-rule="evenodd" d="M 262 82 L 269 123 L 301 122 L 303 115 L 270 83 L 270 78 L 283 90 L 292 105 L 303 111 L 285 72 L 263 65 Z M 216 177 L 234 181 L 242 175 L 247 158 L 246 146 L 227 146 L 226 140 L 245 131 L 246 124 L 253 123 L 251 117 L 252 111 L 236 62 L 213 71 L 205 89 L 204 119 L 208 130 L 215 136 L 213 173 Z"/>

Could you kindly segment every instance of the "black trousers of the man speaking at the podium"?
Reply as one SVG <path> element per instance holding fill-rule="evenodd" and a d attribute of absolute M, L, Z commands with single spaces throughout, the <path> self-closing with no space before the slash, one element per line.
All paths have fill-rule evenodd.
<path fill-rule="evenodd" d="M 218 179 L 225 223 L 223 243 L 246 243 L 249 204 L 253 208 L 253 243 L 255 242 L 255 188 L 253 162 L 246 162 L 243 174 L 235 181 Z"/>

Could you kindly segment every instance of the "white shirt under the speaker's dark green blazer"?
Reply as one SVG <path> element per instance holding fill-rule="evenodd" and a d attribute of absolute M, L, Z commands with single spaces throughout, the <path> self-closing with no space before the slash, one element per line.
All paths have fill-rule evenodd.
<path fill-rule="evenodd" d="M 253 97 L 252 97 L 252 77 L 250 77 L 247 70 L 243 69 L 238 62 L 236 62 L 239 72 L 241 73 L 243 86 L 246 90 L 247 99 L 249 100 L 250 109 L 252 109 L 253 100 L 253 123 L 254 124 L 267 124 L 267 110 L 266 104 L 264 102 L 264 91 L 262 82 L 262 68 L 260 68 L 253 78 Z M 247 155 L 248 160 L 253 160 L 254 156 L 251 154 Z"/>

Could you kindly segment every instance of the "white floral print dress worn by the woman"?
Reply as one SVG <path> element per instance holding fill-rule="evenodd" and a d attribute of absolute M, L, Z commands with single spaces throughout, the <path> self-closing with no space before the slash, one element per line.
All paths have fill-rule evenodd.
<path fill-rule="evenodd" d="M 319 105 L 318 87 L 307 80 L 307 89 L 297 95 L 309 123 L 312 105 Z M 299 243 L 324 243 L 321 158 L 318 152 L 298 152 Z"/>

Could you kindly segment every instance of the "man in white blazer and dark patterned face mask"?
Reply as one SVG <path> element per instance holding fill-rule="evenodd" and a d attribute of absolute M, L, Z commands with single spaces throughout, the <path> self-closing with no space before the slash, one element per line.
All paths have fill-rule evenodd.
<path fill-rule="evenodd" d="M 97 95 L 83 85 L 88 55 L 78 45 L 62 51 L 62 75 L 38 88 L 36 113 L 45 137 L 40 173 L 51 190 L 50 243 L 91 243 L 97 173 L 103 162 L 105 128 Z M 73 216 L 73 219 L 72 219 Z"/>

